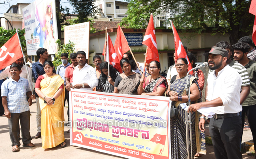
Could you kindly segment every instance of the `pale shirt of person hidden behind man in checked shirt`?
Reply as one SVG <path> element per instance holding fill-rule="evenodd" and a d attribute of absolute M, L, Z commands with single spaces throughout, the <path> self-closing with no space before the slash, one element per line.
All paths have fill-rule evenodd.
<path fill-rule="evenodd" d="M 5 78 L 7 78 L 7 77 L 8 77 L 8 78 L 11 78 L 10 67 L 11 67 L 11 66 L 7 66 L 7 67 L 5 68 L 5 70 L 0 73 L 0 80 L 5 79 Z M 32 85 L 32 83 L 33 83 L 33 79 L 32 79 L 32 78 L 33 78 L 33 77 L 32 77 L 32 70 L 31 70 L 31 68 L 27 67 L 27 68 L 28 68 L 28 72 L 29 72 L 29 76 L 30 76 L 30 79 L 29 79 L 28 73 L 27 73 L 27 70 L 26 70 L 26 67 L 27 67 L 27 66 L 25 66 L 25 65 L 22 66 L 20 77 L 22 77 L 22 78 L 24 78 L 24 79 L 27 79 L 27 80 L 31 83 L 31 86 L 33 86 L 33 85 Z"/>

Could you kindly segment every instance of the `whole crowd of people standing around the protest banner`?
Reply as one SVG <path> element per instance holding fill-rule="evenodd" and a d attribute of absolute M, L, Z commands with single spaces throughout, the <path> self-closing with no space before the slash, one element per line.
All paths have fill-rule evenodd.
<path fill-rule="evenodd" d="M 209 131 L 217 159 L 241 159 L 245 115 L 256 143 L 256 50 L 252 47 L 252 40 L 249 37 L 241 38 L 232 46 L 226 41 L 220 41 L 209 53 L 203 54 L 208 58 L 210 69 L 207 85 L 202 70 L 197 69 L 192 75 L 187 75 L 187 59 L 178 58 L 175 61 L 175 54 L 175 64 L 170 66 L 167 77 L 163 77 L 160 74 L 159 61 L 145 63 L 145 71 L 141 72 L 143 67 L 130 59 L 127 53 L 120 61 L 122 73 L 112 65 L 108 66 L 107 62 L 102 62 L 99 55 L 93 57 L 93 68 L 86 63 L 84 51 L 70 53 L 69 56 L 68 53 L 62 53 L 62 64 L 56 70 L 53 63 L 48 61 L 47 49 L 40 48 L 36 53 L 39 58 L 37 62 L 28 57 L 29 74 L 26 72 L 23 58 L 0 72 L 0 79 L 5 79 L 4 82 L 0 81 L 1 103 L 4 108 L 0 108 L 0 115 L 5 114 L 9 120 L 13 152 L 19 151 L 20 138 L 24 146 L 34 146 L 30 142 L 29 133 L 29 106 L 33 99 L 36 99 L 37 106 L 38 133 L 35 138 L 42 138 L 44 149 L 58 145 L 66 146 L 64 126 L 56 125 L 58 121 L 64 121 L 65 101 L 68 102 L 69 118 L 68 92 L 72 88 L 107 93 L 168 96 L 172 101 L 171 106 L 178 110 L 178 114 L 170 119 L 172 159 L 185 159 L 187 155 L 200 157 L 206 154 L 206 116 L 197 112 L 201 107 L 215 107 Z M 193 53 L 187 55 L 192 68 L 196 67 L 196 57 Z M 68 62 L 69 58 L 71 64 Z M 32 85 L 32 78 L 35 82 L 34 89 L 30 88 L 29 84 L 31 82 Z M 189 79 L 190 83 L 190 99 L 185 89 L 186 79 Z M 205 102 L 202 102 L 203 89 Z M 32 95 L 31 90 L 35 95 Z M 188 112 L 192 113 L 192 154 L 188 153 L 186 148 L 184 108 L 189 105 L 189 101 L 191 105 Z"/>

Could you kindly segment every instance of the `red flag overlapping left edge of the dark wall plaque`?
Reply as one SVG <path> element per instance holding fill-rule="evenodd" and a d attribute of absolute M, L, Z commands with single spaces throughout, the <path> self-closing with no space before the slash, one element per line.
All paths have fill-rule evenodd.
<path fill-rule="evenodd" d="M 121 27 L 118 25 L 117 28 L 117 38 L 115 41 L 115 46 L 114 46 L 118 58 L 122 59 L 124 53 L 128 52 L 130 50 L 129 44 L 126 40 L 125 35 L 123 34 L 123 31 Z"/>

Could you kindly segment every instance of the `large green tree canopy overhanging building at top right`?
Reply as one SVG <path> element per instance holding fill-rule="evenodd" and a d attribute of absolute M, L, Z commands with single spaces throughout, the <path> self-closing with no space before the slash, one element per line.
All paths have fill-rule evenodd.
<path fill-rule="evenodd" d="M 251 0 L 128 0 L 128 17 L 121 25 L 145 28 L 150 13 L 167 12 L 176 29 L 228 33 L 231 44 L 253 29 Z M 144 18 L 145 17 L 145 18 Z M 128 25 L 126 25 L 128 24 Z"/>

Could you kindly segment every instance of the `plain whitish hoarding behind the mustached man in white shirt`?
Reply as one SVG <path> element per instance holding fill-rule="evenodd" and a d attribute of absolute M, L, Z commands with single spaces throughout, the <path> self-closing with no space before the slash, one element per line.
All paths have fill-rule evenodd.
<path fill-rule="evenodd" d="M 65 44 L 69 40 L 75 43 L 75 52 L 82 50 L 86 54 L 86 59 L 89 59 L 89 33 L 90 22 L 65 26 Z"/>

